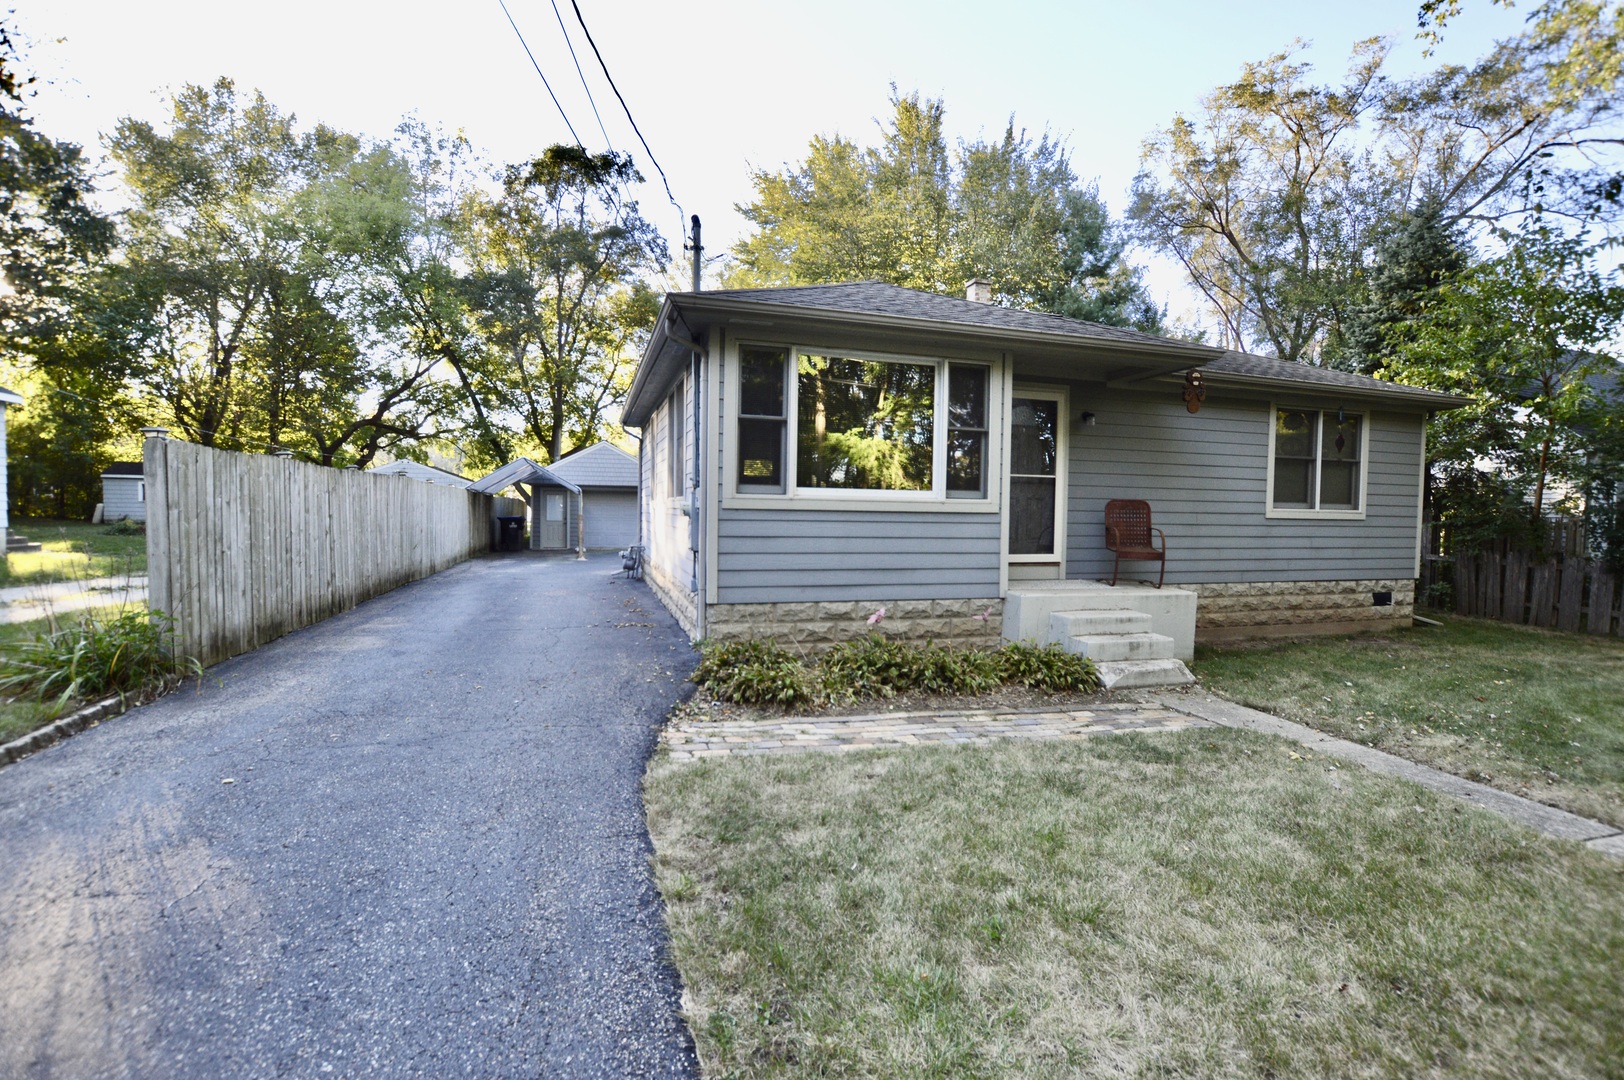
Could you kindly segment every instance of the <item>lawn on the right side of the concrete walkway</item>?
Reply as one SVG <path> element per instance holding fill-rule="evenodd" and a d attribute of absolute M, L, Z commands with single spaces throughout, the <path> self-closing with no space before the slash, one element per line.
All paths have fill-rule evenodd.
<path fill-rule="evenodd" d="M 1624 828 L 1624 642 L 1479 619 L 1197 648 L 1218 693 Z"/>

